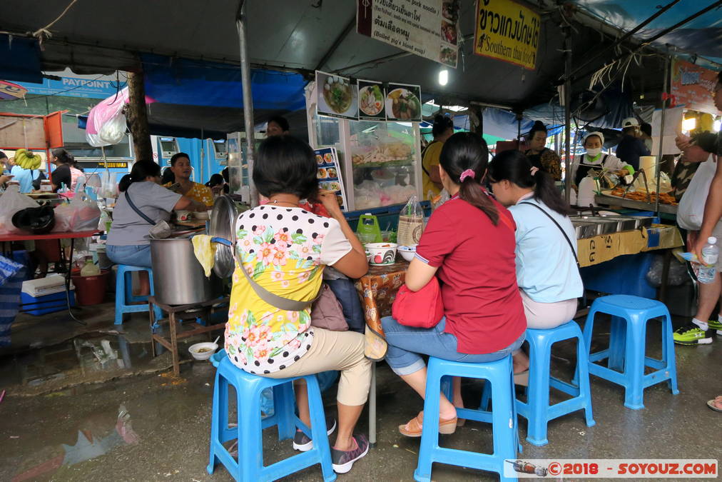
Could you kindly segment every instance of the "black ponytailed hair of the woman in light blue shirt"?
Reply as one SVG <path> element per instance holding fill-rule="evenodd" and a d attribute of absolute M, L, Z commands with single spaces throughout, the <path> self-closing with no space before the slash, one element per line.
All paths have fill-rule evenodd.
<path fill-rule="evenodd" d="M 533 189 L 534 199 L 560 215 L 568 216 L 574 212 L 554 185 L 552 176 L 533 167 L 529 158 L 518 150 L 500 152 L 489 165 L 489 177 L 492 182 L 506 180 L 521 188 Z"/>

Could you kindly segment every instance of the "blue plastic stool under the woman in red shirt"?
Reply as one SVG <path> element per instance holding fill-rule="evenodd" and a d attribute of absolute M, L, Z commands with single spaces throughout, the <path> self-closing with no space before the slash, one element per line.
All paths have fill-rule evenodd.
<path fill-rule="evenodd" d="M 492 423 L 494 453 L 482 454 L 466 450 L 439 447 L 439 394 L 443 376 L 464 376 L 486 379 L 492 384 L 494 410 L 457 408 L 458 418 Z M 451 387 L 451 384 L 449 384 Z M 426 379 L 424 423 L 419 449 L 419 462 L 414 472 L 417 481 L 431 481 L 431 465 L 441 462 L 449 465 L 489 470 L 500 475 L 502 481 L 516 481 L 504 476 L 504 460 L 516 459 L 518 433 L 514 408 L 511 356 L 489 363 L 460 363 L 430 357 Z M 507 464 L 508 465 L 508 464 Z"/>

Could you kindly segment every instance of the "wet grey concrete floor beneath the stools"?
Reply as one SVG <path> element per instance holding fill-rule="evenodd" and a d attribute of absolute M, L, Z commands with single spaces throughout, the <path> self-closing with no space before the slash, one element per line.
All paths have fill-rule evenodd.
<path fill-rule="evenodd" d="M 87 327 L 62 312 L 18 318 L 12 347 L 0 349 L 0 390 L 7 392 L 0 403 L 0 480 L 232 480 L 222 466 L 214 475 L 205 470 L 212 366 L 183 363 L 181 377 L 170 376 L 168 353 L 149 357 L 147 319 L 137 316 L 118 330 L 112 314 L 112 305 L 84 310 Z M 605 332 L 602 323 L 595 343 L 604 343 Z M 659 353 L 658 335 L 651 324 L 648 354 Z M 559 343 L 554 355 L 555 374 L 569 378 L 574 346 Z M 722 394 L 722 337 L 711 345 L 677 346 L 676 355 L 679 395 L 658 384 L 645 390 L 645 409 L 629 410 L 619 387 L 593 376 L 596 426 L 587 427 L 583 414 L 573 413 L 549 424 L 547 446 L 534 447 L 524 440 L 526 421 L 520 418 L 520 457 L 722 459 L 722 414 L 705 405 Z M 330 413 L 334 392 L 326 394 Z M 463 392 L 466 404 L 475 406 L 481 384 L 464 380 Z M 339 480 L 411 481 L 419 440 L 401 436 L 397 426 L 421 408 L 422 400 L 380 363 L 378 447 Z M 358 430 L 367 432 L 366 410 Z M 491 434 L 489 426 L 468 422 L 442 441 L 483 450 Z M 290 441 L 278 442 L 273 429 L 266 430 L 264 455 L 268 461 L 292 455 Z M 436 481 L 497 480 L 477 470 L 434 467 Z M 320 481 L 321 470 L 309 468 L 288 480 Z"/>

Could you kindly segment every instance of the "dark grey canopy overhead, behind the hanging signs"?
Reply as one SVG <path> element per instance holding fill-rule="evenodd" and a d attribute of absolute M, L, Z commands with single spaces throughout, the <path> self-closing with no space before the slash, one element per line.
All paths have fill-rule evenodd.
<path fill-rule="evenodd" d="M 0 2 L 3 30 L 36 32 L 56 20 L 68 3 L 47 0 L 42 9 L 28 9 L 26 1 L 4 0 Z M 473 55 L 476 2 L 462 1 L 461 58 L 445 86 L 438 85 L 440 64 L 357 34 L 355 0 L 284 0 L 273 2 L 273 8 L 266 1 L 246 3 L 249 56 L 257 68 L 301 73 L 321 69 L 420 84 L 422 92 L 432 93 L 445 105 L 476 100 L 516 110 L 554 97 L 554 82 L 563 72 L 558 8 L 549 1 L 529 4 L 540 11 L 542 22 L 534 70 Z M 539 5 L 544 8 L 540 10 Z M 173 5 L 147 0 L 80 1 L 52 25 L 53 35 L 43 37 L 37 55 L 45 69 L 71 66 L 75 72 L 87 73 L 137 71 L 145 62 L 138 53 L 237 66 L 238 7 L 233 1 L 177 0 Z M 112 21 L 103 20 L 109 17 Z M 580 24 L 572 35 L 577 58 L 611 42 L 593 27 Z M 12 74 L 6 77 L 14 78 Z"/>

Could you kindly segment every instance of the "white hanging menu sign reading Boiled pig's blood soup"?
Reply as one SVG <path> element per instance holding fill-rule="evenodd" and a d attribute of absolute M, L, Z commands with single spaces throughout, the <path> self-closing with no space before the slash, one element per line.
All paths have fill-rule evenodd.
<path fill-rule="evenodd" d="M 456 68 L 458 0 L 357 0 L 356 30 Z"/>

